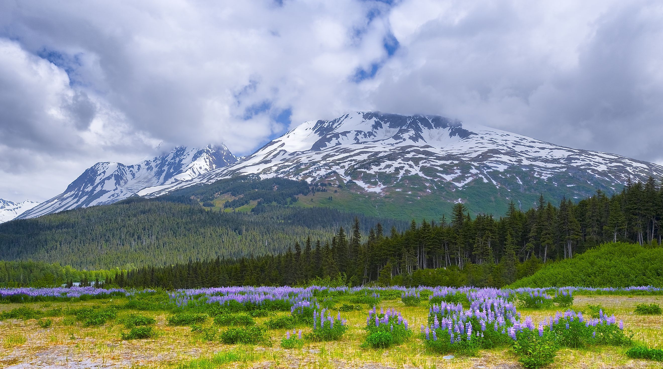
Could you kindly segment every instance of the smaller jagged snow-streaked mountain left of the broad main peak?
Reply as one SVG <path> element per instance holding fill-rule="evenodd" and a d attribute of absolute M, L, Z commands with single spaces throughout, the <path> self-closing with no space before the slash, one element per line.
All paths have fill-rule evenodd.
<path fill-rule="evenodd" d="M 135 165 L 96 163 L 67 189 L 21 214 L 17 219 L 34 218 L 93 205 L 111 204 L 145 187 L 190 181 L 204 173 L 235 163 L 237 157 L 225 145 L 203 149 L 176 147 L 170 153 Z"/>

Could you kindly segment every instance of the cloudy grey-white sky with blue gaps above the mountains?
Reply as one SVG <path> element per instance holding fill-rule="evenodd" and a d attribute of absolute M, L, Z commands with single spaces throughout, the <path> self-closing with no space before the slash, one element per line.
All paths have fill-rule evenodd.
<path fill-rule="evenodd" d="M 663 2 L 0 1 L 0 198 L 353 110 L 663 163 Z"/>

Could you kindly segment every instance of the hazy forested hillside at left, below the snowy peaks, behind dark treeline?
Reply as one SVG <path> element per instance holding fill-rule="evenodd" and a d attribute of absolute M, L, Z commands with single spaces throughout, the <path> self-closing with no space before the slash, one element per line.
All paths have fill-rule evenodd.
<path fill-rule="evenodd" d="M 292 192 L 279 194 L 274 189 L 267 194 L 272 195 L 271 204 L 261 202 L 251 213 L 210 211 L 189 196 L 178 195 L 130 198 L 15 220 L 0 224 L 0 259 L 32 259 L 88 270 L 170 265 L 190 259 L 280 253 L 307 237 L 328 239 L 357 216 L 367 227 L 377 222 L 406 227 L 405 222 L 327 208 L 286 208 L 278 205 L 278 199 L 296 200 Z"/>

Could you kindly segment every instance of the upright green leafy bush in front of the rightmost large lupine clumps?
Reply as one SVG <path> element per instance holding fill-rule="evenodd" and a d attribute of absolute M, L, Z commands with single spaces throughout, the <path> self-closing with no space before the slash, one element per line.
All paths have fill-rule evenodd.
<path fill-rule="evenodd" d="M 558 345 L 550 329 L 546 328 L 540 332 L 525 328 L 516 333 L 512 348 L 525 368 L 540 368 L 552 363 L 557 355 Z"/>

